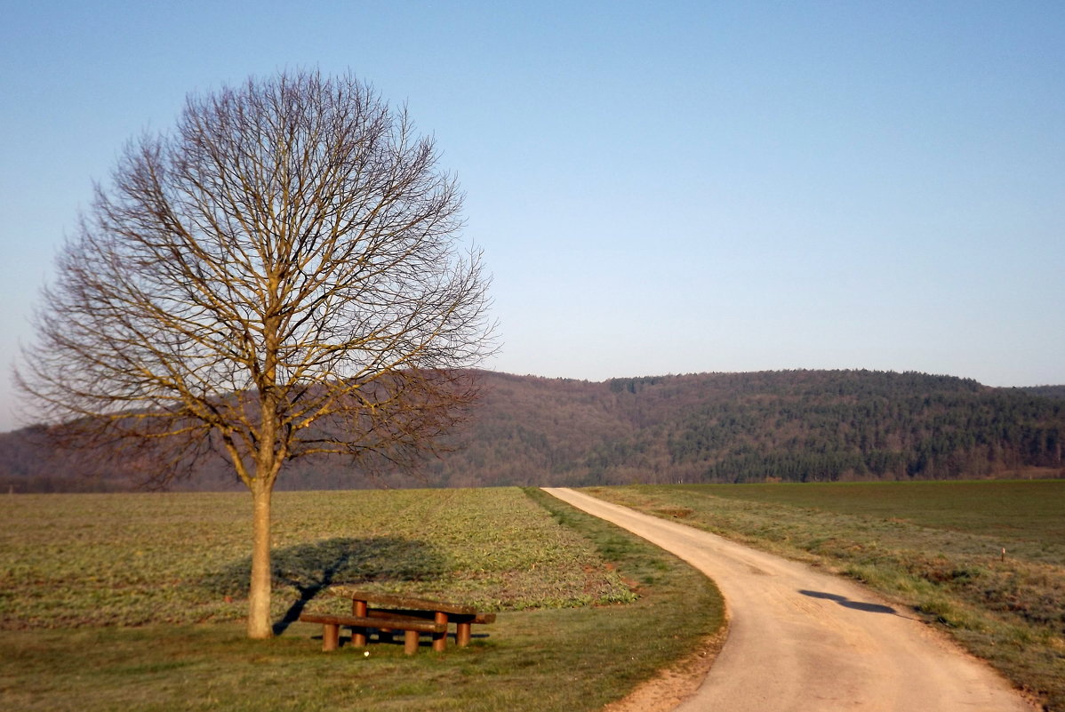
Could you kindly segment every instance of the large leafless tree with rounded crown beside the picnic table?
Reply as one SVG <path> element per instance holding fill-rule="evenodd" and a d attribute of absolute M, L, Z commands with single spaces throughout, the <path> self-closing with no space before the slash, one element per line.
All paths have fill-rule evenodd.
<path fill-rule="evenodd" d="M 350 76 L 190 96 L 126 147 L 43 292 L 16 371 L 34 417 L 155 483 L 216 451 L 247 485 L 251 638 L 282 464 L 411 466 L 475 400 L 489 280 L 437 161 Z"/>

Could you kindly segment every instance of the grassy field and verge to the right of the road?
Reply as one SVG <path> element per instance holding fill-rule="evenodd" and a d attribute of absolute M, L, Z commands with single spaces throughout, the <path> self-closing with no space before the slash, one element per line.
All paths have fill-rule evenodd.
<path fill-rule="evenodd" d="M 589 492 L 856 578 L 1065 711 L 1065 481 Z"/>

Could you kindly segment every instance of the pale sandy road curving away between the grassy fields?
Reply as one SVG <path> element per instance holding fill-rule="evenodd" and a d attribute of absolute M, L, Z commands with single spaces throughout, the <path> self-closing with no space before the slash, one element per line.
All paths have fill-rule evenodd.
<path fill-rule="evenodd" d="M 546 492 L 717 582 L 728 640 L 676 712 L 1032 712 L 924 624 L 846 579 L 564 489 Z"/>

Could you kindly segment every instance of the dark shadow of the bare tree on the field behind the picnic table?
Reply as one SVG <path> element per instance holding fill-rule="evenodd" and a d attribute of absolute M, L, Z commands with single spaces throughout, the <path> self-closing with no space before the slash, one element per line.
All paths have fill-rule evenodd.
<path fill-rule="evenodd" d="M 295 589 L 299 598 L 274 623 L 274 634 L 298 620 L 307 605 L 329 586 L 423 581 L 446 570 L 447 558 L 432 544 L 397 536 L 329 539 L 275 549 L 271 552 L 273 584 Z M 246 597 L 250 578 L 248 557 L 208 574 L 200 583 L 219 596 Z"/>

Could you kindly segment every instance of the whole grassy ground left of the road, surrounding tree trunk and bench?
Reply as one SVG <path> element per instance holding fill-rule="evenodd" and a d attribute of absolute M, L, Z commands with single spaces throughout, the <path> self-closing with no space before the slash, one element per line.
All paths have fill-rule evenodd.
<path fill-rule="evenodd" d="M 251 642 L 249 515 L 231 494 L 0 497 L 0 708 L 596 710 L 722 623 L 705 578 L 539 491 L 280 493 L 279 635 Z M 346 610 L 348 585 L 499 616 L 440 655 L 325 655 L 286 622 Z"/>

